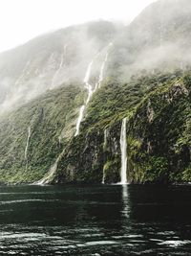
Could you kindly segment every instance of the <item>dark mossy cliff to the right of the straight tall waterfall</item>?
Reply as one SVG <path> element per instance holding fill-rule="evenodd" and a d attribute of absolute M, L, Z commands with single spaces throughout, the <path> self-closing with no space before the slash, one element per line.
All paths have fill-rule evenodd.
<path fill-rule="evenodd" d="M 186 80 L 157 89 L 138 106 L 130 121 L 128 160 L 133 182 L 190 179 L 191 105 Z"/>

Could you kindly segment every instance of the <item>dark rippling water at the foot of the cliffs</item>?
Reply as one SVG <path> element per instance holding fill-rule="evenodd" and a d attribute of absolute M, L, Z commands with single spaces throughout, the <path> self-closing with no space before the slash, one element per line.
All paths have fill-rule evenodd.
<path fill-rule="evenodd" d="M 191 187 L 0 187 L 0 255 L 191 255 Z"/>

